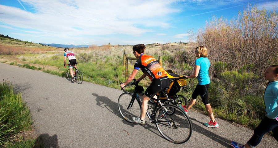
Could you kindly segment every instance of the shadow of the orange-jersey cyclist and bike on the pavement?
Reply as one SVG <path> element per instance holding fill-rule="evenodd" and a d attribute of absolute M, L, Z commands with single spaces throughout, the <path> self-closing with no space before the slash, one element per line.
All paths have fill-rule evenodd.
<path fill-rule="evenodd" d="M 116 116 L 118 116 L 119 118 L 122 119 L 122 122 L 126 125 L 129 125 L 129 126 L 132 126 L 134 127 L 134 124 L 133 123 L 129 123 L 127 121 L 125 121 L 122 116 L 120 115 L 120 112 L 119 112 L 119 108 L 118 108 L 118 103 L 117 102 L 113 102 L 112 100 L 110 100 L 109 98 L 107 97 L 104 97 L 104 96 L 99 96 L 98 94 L 95 94 L 95 93 L 92 93 L 93 96 L 96 97 L 96 101 L 97 101 L 97 105 L 102 107 L 102 108 L 106 108 L 107 110 L 109 110 L 110 112 L 112 112 L 113 114 L 115 114 Z M 148 119 L 148 117 L 146 117 L 146 119 Z M 152 125 L 152 123 L 150 122 L 147 122 L 145 125 L 143 125 L 143 127 L 147 130 L 150 130 L 151 132 L 153 132 L 154 134 L 157 134 L 158 136 L 162 137 L 158 131 L 157 131 L 157 128 L 154 127 Z M 162 137 L 163 138 L 163 137 Z"/>

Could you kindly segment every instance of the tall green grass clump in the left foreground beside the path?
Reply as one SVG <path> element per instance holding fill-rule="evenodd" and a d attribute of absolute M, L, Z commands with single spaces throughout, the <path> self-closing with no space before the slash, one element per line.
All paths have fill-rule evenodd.
<path fill-rule="evenodd" d="M 20 131 L 31 130 L 29 109 L 9 81 L 0 82 L 0 117 L 0 146 Z"/>

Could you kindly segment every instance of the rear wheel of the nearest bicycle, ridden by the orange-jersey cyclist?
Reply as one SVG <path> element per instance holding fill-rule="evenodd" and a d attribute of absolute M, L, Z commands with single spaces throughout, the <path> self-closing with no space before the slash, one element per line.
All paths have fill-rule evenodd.
<path fill-rule="evenodd" d="M 167 112 L 166 115 L 160 117 L 158 108 L 155 113 L 156 127 L 159 133 L 168 141 L 172 143 L 184 143 L 189 140 L 192 134 L 192 125 L 187 115 L 177 106 L 172 104 L 164 104 L 166 108 L 175 108 L 174 114 L 170 115 Z"/>

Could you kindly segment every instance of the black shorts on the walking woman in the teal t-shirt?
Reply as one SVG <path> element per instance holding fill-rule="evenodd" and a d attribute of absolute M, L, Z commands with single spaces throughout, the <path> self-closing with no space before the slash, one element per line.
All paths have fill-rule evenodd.
<path fill-rule="evenodd" d="M 208 88 L 210 86 L 209 84 L 206 85 L 199 85 L 197 84 L 193 94 L 192 94 L 192 99 L 196 99 L 197 96 L 201 96 L 202 98 L 202 102 L 204 103 L 204 105 L 208 104 Z"/>

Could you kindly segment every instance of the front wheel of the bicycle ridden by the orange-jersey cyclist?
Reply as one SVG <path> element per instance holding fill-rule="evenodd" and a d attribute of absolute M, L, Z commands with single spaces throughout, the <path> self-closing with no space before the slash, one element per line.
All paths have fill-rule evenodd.
<path fill-rule="evenodd" d="M 135 99 L 133 102 L 133 106 L 127 110 L 131 99 L 132 95 L 127 93 L 121 94 L 118 99 L 118 108 L 124 120 L 130 123 L 134 123 L 132 118 L 140 117 L 141 115 L 141 104 L 137 101 L 137 99 Z"/>

